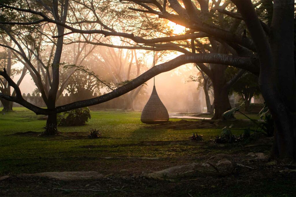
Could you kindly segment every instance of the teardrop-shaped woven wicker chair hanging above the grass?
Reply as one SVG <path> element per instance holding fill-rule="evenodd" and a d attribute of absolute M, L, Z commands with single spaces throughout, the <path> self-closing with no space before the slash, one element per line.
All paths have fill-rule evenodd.
<path fill-rule="evenodd" d="M 146 124 L 160 124 L 168 122 L 168 120 L 168 110 L 158 97 L 154 85 L 152 94 L 142 111 L 141 121 Z"/>

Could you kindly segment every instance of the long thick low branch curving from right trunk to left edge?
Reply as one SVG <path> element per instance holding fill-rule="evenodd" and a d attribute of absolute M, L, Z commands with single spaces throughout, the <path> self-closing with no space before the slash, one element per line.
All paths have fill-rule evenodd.
<path fill-rule="evenodd" d="M 253 65 L 251 62 L 251 59 L 248 57 L 238 57 L 238 56 L 232 56 L 232 55 L 226 55 L 226 54 L 184 54 L 168 62 L 152 67 L 151 69 L 149 69 L 148 71 L 140 75 L 139 77 L 136 77 L 135 79 L 131 80 L 131 82 L 117 88 L 116 90 L 110 93 L 104 94 L 102 96 L 99 96 L 93 99 L 76 101 L 63 106 L 58 106 L 54 109 L 42 109 L 40 107 L 37 107 L 25 101 L 21 96 L 19 87 L 13 82 L 13 80 L 6 74 L 8 76 L 7 77 L 5 75 L 5 72 L 0 72 L 0 75 L 4 76 L 6 80 L 9 81 L 9 85 L 11 85 L 17 91 L 16 97 L 7 96 L 7 95 L 4 95 L 3 93 L 0 93 L 0 97 L 7 99 L 9 101 L 16 102 L 18 104 L 21 104 L 26 108 L 32 110 L 36 114 L 47 115 L 47 114 L 60 113 L 60 112 L 65 112 L 72 109 L 104 103 L 111 99 L 117 98 L 139 87 L 140 85 L 145 83 L 147 80 L 151 79 L 152 77 L 162 72 L 173 70 L 174 68 L 177 68 L 181 65 L 188 64 L 188 63 L 224 64 L 224 65 L 231 65 L 234 67 L 242 68 L 244 70 L 249 70 L 250 72 L 252 71 L 258 72 L 258 67 Z"/>

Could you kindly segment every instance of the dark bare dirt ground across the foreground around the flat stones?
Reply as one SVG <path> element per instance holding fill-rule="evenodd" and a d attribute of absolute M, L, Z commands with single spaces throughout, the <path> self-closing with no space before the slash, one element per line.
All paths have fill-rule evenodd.
<path fill-rule="evenodd" d="M 147 142 L 146 142 L 147 143 Z M 153 142 L 150 142 L 153 146 Z M 158 142 L 160 143 L 160 142 Z M 227 176 L 187 176 L 171 181 L 147 179 L 145 172 L 162 170 L 197 160 L 180 158 L 105 158 L 110 165 L 97 167 L 100 179 L 61 181 L 46 177 L 12 175 L 0 181 L 1 196 L 296 196 L 293 161 L 256 159 L 249 144 L 232 154 L 235 168 Z M 262 143 L 262 142 L 261 142 Z M 159 144 L 157 144 L 159 145 Z M 208 146 L 208 143 L 205 143 Z M 223 148 L 223 147 L 222 147 Z M 198 160 L 208 159 L 199 155 Z M 112 161 L 121 160 L 120 166 Z M 116 162 L 118 164 L 118 162 Z M 276 184 L 276 187 L 274 185 Z"/>

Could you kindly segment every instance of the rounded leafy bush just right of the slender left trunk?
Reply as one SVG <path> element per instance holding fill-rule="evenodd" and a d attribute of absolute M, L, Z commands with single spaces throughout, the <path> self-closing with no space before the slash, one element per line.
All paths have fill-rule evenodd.
<path fill-rule="evenodd" d="M 62 112 L 57 116 L 58 126 L 82 126 L 91 118 L 91 112 L 88 107 L 73 109 Z"/>

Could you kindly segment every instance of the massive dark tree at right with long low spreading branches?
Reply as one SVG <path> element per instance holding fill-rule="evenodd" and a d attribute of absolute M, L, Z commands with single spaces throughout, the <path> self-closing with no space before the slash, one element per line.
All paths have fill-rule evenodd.
<path fill-rule="evenodd" d="M 173 41 L 184 41 L 192 38 L 210 37 L 219 43 L 223 43 L 224 47 L 230 52 L 225 53 L 218 50 L 218 53 L 187 53 L 180 55 L 168 62 L 159 64 L 147 72 L 139 75 L 131 82 L 117 88 L 115 91 L 105 95 L 88 99 L 84 101 L 77 101 L 64 106 L 58 106 L 50 109 L 42 109 L 24 101 L 21 97 L 18 86 L 9 78 L 6 72 L 1 71 L 0 74 L 16 89 L 17 96 L 9 97 L 4 94 L 0 96 L 10 101 L 18 102 L 23 106 L 31 109 L 36 114 L 56 114 L 70 109 L 79 108 L 82 106 L 89 106 L 99 104 L 115 97 L 121 96 L 136 87 L 142 85 L 145 81 L 153 76 L 176 68 L 187 63 L 209 63 L 217 65 L 230 65 L 239 69 L 244 69 L 259 75 L 259 86 L 266 104 L 268 105 L 274 120 L 275 120 L 275 142 L 273 145 L 272 155 L 277 157 L 293 157 L 295 158 L 295 109 L 296 109 L 296 91 L 295 91 L 295 64 L 294 64 L 294 1 L 280 1 L 274 0 L 273 9 L 266 10 L 261 1 L 252 4 L 252 1 L 232 0 L 235 7 L 231 11 L 226 9 L 212 10 L 212 12 L 220 13 L 220 16 L 230 16 L 241 20 L 248 30 L 248 34 L 244 31 L 243 35 L 232 32 L 222 27 L 217 27 L 213 20 L 208 19 L 208 12 L 204 12 L 203 8 L 209 7 L 209 1 L 198 0 L 196 4 L 200 5 L 202 11 L 197 9 L 195 4 L 190 0 L 183 0 L 185 8 L 183 8 L 178 1 L 170 0 L 169 12 L 166 8 L 166 1 L 161 5 L 158 1 L 149 1 L 143 3 L 142 1 L 133 0 L 134 3 L 142 7 L 142 9 L 132 8 L 137 12 L 149 13 L 151 16 L 176 22 L 179 25 L 190 28 L 191 31 L 184 35 L 164 36 L 161 38 L 146 39 L 131 33 L 117 32 L 112 28 L 102 29 L 79 29 L 71 25 L 53 20 L 42 12 L 37 12 L 32 9 L 22 9 L 18 7 L 10 7 L 8 5 L 0 4 L 5 9 L 14 9 L 22 12 L 34 13 L 38 15 L 39 20 L 55 23 L 59 26 L 67 28 L 69 33 L 85 33 L 85 34 L 103 34 L 105 36 L 121 36 L 131 39 L 133 42 L 131 49 L 149 48 L 155 44 L 160 50 L 175 49 L 176 51 L 186 50 L 186 46 L 180 47 L 178 43 Z M 267 2 L 268 3 L 268 2 Z M 271 4 L 272 2 L 269 2 Z M 218 2 L 213 1 L 213 4 Z M 263 21 L 256 13 L 256 8 L 261 7 L 266 10 L 268 16 L 272 16 L 272 20 Z M 171 10 L 173 9 L 173 10 Z M 239 13 L 237 13 L 237 12 Z M 212 16 L 210 16 L 211 18 Z M 270 18 L 270 17 L 268 17 Z M 38 20 L 32 20 L 31 23 L 39 23 Z M 86 21 L 86 23 L 102 23 L 97 21 Z M 0 22 L 6 25 L 22 24 L 22 22 Z M 267 23 L 267 24 L 266 24 Z M 270 24 L 270 26 L 268 26 Z M 101 24 L 104 27 L 104 24 Z M 197 32 L 197 33 L 196 33 Z M 62 37 L 62 35 L 58 35 Z M 142 43 L 139 45 L 138 43 Z M 162 43 L 162 44 L 156 44 Z M 143 46 L 144 44 L 144 46 Z M 145 46 L 146 45 L 146 46 Z M 112 45 L 113 47 L 118 47 Z M 184 47 L 184 48 L 183 48 Z M 118 47 L 120 48 L 120 47 Z M 127 47 L 126 47 L 127 48 Z M 222 47 L 223 48 L 223 47 Z M 184 51 L 185 52 L 185 51 Z M 190 51 L 189 51 L 190 52 Z M 206 70 L 206 69 L 205 69 Z M 206 73 L 207 74 L 207 73 Z M 291 84 L 287 86 L 286 84 Z"/>

